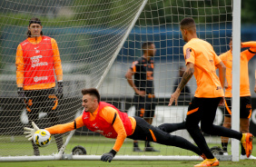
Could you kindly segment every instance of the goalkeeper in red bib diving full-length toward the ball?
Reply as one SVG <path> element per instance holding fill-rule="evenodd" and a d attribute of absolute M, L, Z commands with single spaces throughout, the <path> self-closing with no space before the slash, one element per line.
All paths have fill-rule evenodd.
<path fill-rule="evenodd" d="M 77 117 L 73 122 L 57 124 L 45 128 L 45 130 L 51 134 L 56 134 L 66 133 L 86 126 L 95 133 L 101 133 L 107 138 L 115 139 L 113 149 L 102 155 L 101 160 L 103 162 L 111 162 L 113 160 L 126 137 L 133 140 L 157 142 L 180 147 L 195 152 L 204 158 L 204 155 L 197 146 L 180 136 L 170 134 L 173 131 L 179 130 L 179 126 L 176 123 L 164 123 L 159 127 L 154 127 L 145 122 L 141 117 L 129 117 L 127 113 L 120 112 L 112 104 L 100 102 L 100 93 L 95 88 L 83 89 L 82 94 L 84 113 L 81 116 Z M 28 140 L 32 140 L 36 129 L 39 129 L 34 123 L 32 124 L 33 129 L 25 127 L 25 134 L 28 134 L 25 137 Z"/>

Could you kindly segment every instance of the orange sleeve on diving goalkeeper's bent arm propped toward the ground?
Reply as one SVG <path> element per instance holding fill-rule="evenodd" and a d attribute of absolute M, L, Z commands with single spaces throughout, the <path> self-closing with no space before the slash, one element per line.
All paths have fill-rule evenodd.
<path fill-rule="evenodd" d="M 112 107 L 109 107 L 109 106 L 104 107 L 102 113 L 103 113 L 103 115 L 102 115 L 103 118 L 108 123 L 113 123 L 113 117 L 115 114 L 117 114 L 116 119 L 113 123 L 113 129 L 117 133 L 116 141 L 113 145 L 113 150 L 118 152 L 120 150 L 120 148 L 122 147 L 123 142 L 127 136 L 124 126 L 123 126 L 123 122 L 122 122 L 118 112 L 115 109 L 113 109 Z"/>

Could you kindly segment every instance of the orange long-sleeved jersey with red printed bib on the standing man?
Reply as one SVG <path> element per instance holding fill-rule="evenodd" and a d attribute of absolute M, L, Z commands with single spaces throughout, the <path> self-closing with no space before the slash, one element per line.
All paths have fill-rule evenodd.
<path fill-rule="evenodd" d="M 62 64 L 54 38 L 28 37 L 19 44 L 16 52 L 16 83 L 24 90 L 49 89 L 63 80 Z M 54 69 L 53 69 L 54 68 Z"/>

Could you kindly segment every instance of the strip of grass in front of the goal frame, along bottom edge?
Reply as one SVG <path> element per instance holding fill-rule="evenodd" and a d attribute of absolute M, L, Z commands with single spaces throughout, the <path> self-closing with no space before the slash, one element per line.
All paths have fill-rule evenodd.
<path fill-rule="evenodd" d="M 0 167 L 192 167 L 199 162 L 180 162 L 180 161 L 46 161 L 46 162 L 0 162 Z M 220 162 L 223 167 L 252 167 L 255 166 L 254 160 L 242 160 L 240 162 Z"/>

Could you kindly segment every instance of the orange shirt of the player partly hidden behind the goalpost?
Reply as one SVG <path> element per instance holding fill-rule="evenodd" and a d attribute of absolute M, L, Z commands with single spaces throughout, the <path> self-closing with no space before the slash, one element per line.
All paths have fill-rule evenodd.
<path fill-rule="evenodd" d="M 250 47 L 240 55 L 240 96 L 251 96 L 250 93 L 250 83 L 249 83 L 249 72 L 248 72 L 248 62 L 255 55 L 256 52 L 256 42 L 241 43 L 242 47 Z M 231 97 L 232 91 L 232 54 L 231 50 L 221 54 L 223 64 L 226 65 L 226 81 L 228 87 L 225 90 L 225 97 Z"/>

